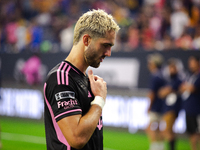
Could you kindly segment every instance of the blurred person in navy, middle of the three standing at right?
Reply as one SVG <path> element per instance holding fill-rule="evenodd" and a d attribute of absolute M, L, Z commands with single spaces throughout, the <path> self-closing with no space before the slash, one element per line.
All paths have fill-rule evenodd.
<path fill-rule="evenodd" d="M 162 87 L 158 92 L 159 97 L 164 99 L 162 108 L 162 135 L 168 141 L 169 150 L 175 149 L 173 125 L 178 117 L 182 101 L 179 93 L 182 80 L 179 77 L 177 65 L 177 59 L 171 58 L 168 60 L 167 69 L 169 75 L 166 77 L 167 85 Z"/>

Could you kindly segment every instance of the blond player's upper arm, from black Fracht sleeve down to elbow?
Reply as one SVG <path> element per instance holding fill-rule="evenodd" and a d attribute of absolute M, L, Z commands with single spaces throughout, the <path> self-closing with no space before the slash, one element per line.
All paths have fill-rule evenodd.
<path fill-rule="evenodd" d="M 53 111 L 52 119 L 56 120 L 69 145 L 78 149 L 83 146 L 82 139 L 77 136 L 82 108 L 75 91 L 71 86 L 49 84 L 45 97 Z"/>

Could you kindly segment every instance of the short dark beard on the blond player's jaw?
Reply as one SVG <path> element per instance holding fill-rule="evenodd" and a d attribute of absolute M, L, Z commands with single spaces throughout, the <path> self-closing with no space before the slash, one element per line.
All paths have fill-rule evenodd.
<path fill-rule="evenodd" d="M 84 57 L 89 66 L 94 68 L 98 68 L 100 66 L 100 58 L 98 59 L 98 54 L 91 45 L 84 51 Z"/>

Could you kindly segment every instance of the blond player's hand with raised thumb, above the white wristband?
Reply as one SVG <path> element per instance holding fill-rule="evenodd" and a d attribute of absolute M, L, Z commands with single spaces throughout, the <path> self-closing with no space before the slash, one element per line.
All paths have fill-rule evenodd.
<path fill-rule="evenodd" d="M 106 100 L 106 95 L 107 95 L 106 82 L 102 78 L 93 75 L 92 70 L 88 71 L 88 77 L 90 80 L 91 90 L 94 96 L 101 96 L 104 100 Z"/>

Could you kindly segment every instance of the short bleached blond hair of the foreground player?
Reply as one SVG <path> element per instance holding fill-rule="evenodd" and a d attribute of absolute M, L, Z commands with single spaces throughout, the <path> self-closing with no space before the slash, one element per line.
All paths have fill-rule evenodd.
<path fill-rule="evenodd" d="M 83 34 L 89 34 L 91 38 L 105 37 L 107 31 L 119 31 L 119 26 L 114 21 L 112 15 L 104 10 L 90 10 L 84 13 L 77 21 L 74 28 L 74 41 L 76 45 Z"/>

